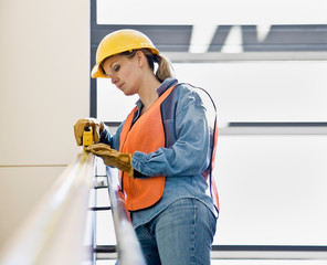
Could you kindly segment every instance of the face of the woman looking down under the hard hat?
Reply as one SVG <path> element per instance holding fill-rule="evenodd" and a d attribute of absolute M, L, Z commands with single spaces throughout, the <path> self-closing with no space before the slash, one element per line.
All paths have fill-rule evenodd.
<path fill-rule="evenodd" d="M 116 85 L 126 96 L 137 94 L 141 70 L 139 67 L 137 54 L 129 59 L 124 55 L 114 55 L 108 57 L 103 68 L 112 78 L 112 83 Z"/>

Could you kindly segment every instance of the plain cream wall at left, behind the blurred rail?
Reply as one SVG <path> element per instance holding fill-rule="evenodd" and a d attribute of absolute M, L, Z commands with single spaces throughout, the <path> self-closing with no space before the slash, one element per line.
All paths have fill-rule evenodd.
<path fill-rule="evenodd" d="M 0 2 L 0 247 L 75 156 L 88 116 L 89 1 Z"/>

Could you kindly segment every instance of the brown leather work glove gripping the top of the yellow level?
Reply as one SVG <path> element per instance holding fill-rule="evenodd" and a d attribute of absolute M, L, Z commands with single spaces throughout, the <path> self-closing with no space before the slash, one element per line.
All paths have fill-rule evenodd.
<path fill-rule="evenodd" d="M 85 127 L 93 128 L 93 140 L 94 142 L 98 142 L 99 134 L 105 128 L 104 123 L 95 118 L 82 118 L 82 119 L 78 119 L 74 125 L 74 135 L 75 135 L 77 146 L 82 146 L 83 144 L 82 138 L 83 138 L 83 132 Z"/>

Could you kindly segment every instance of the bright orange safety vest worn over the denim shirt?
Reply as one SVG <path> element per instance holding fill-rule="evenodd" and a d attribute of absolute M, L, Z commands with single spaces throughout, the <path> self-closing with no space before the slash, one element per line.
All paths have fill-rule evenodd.
<path fill-rule="evenodd" d="M 131 123 L 137 107 L 131 110 L 120 132 L 120 152 L 129 152 L 131 156 L 135 151 L 150 153 L 160 147 L 165 147 L 160 105 L 173 87 L 168 88 L 133 126 Z M 119 180 L 127 210 L 136 211 L 151 206 L 161 199 L 166 177 L 134 179 L 127 172 L 119 171 Z"/>

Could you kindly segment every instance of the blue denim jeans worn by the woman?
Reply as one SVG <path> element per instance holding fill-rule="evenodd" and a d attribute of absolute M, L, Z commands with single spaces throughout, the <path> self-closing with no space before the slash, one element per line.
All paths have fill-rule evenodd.
<path fill-rule="evenodd" d="M 148 265 L 209 265 L 217 219 L 197 199 L 180 199 L 136 234 Z"/>

